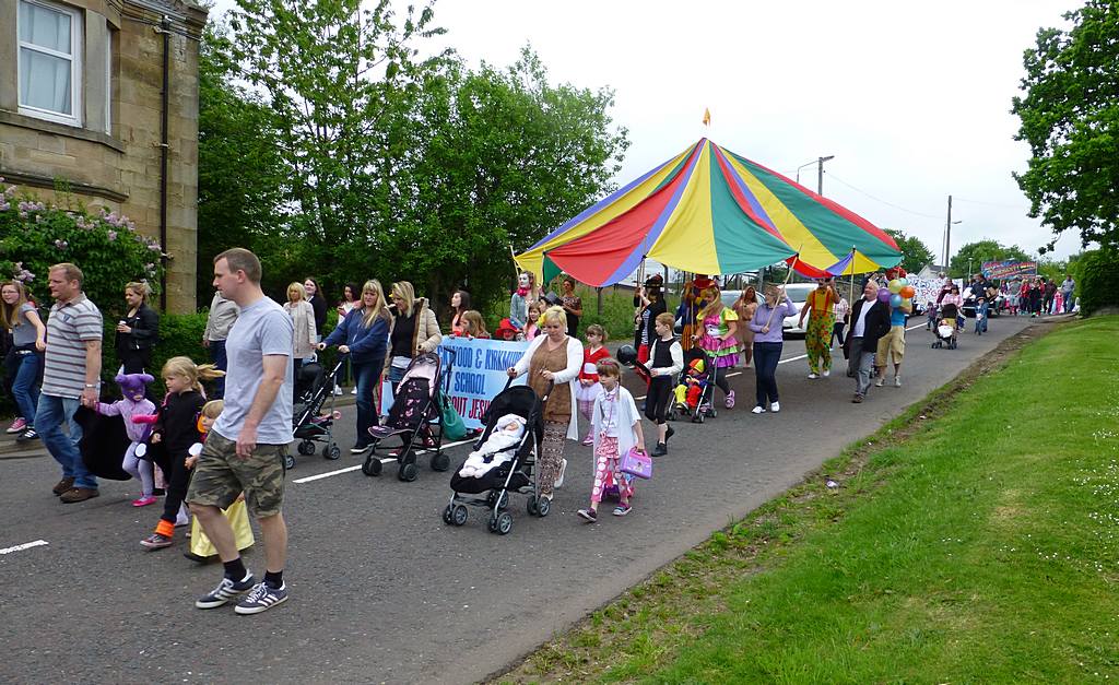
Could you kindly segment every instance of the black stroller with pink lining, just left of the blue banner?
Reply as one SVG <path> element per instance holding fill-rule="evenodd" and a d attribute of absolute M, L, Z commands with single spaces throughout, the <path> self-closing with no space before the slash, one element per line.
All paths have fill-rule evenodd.
<path fill-rule="evenodd" d="M 399 435 L 404 442 L 396 458 L 399 463 L 396 477 L 412 482 L 420 475 L 420 469 L 416 468 L 416 439 L 429 430 L 435 441 L 431 470 L 445 471 L 451 466 L 451 458 L 443 453 L 443 419 L 439 412 L 439 387 L 443 378 L 440 374 L 441 366 L 442 360 L 435 353 L 419 354 L 408 364 L 404 377 L 396 386 L 396 396 L 385 423 L 369 429 L 373 449 L 361 465 L 363 473 L 380 476 L 382 463 L 376 453 L 377 445 L 382 440 Z"/>

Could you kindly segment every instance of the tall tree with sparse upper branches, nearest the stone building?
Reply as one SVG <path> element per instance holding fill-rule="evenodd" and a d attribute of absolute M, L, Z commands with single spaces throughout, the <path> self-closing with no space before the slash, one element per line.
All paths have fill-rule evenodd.
<path fill-rule="evenodd" d="M 276 134 L 291 222 L 286 255 L 307 268 L 370 273 L 379 228 L 399 218 L 398 122 L 442 56 L 415 43 L 442 34 L 430 4 L 403 18 L 389 0 L 237 0 L 237 75 L 262 93 Z M 351 276 L 354 278 L 354 276 Z M 335 283 L 338 285 L 338 283 Z"/>

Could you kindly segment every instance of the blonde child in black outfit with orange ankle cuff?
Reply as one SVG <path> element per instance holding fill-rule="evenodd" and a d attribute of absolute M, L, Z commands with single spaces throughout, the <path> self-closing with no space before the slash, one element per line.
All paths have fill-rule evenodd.
<path fill-rule="evenodd" d="M 187 496 L 187 486 L 190 485 L 191 471 L 187 460 L 190 458 L 190 445 L 201 441 L 198 414 L 206 404 L 206 395 L 199 381 L 218 378 L 225 372 L 211 364 L 195 366 L 188 357 L 172 357 L 163 365 L 162 375 L 167 384 L 167 397 L 157 413 L 150 442 L 159 448 L 153 451 L 168 485 L 163 515 L 160 516 L 156 532 L 140 541 L 149 550 L 171 546 L 175 520 Z M 194 466 L 192 461 L 190 466 Z"/>

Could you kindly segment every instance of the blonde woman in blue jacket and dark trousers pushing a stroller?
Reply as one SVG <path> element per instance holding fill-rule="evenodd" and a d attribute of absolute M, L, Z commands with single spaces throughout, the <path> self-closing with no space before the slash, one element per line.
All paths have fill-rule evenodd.
<path fill-rule="evenodd" d="M 377 390 L 385 367 L 388 329 L 392 313 L 385 302 L 385 291 L 376 279 L 361 287 L 361 299 L 338 327 L 330 331 L 319 349 L 337 345 L 338 351 L 349 355 L 357 390 L 357 440 L 350 452 L 360 454 L 373 442 L 369 429 L 377 425 Z"/>

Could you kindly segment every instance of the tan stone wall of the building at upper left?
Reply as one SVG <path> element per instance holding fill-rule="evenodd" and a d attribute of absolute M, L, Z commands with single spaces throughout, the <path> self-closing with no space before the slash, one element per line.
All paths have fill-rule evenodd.
<path fill-rule="evenodd" d="M 15 77 L 15 59 L 6 57 L 13 56 L 16 50 L 16 3 L 0 2 L 0 27 L 3 27 L 0 28 L 0 93 L 6 93 L 0 95 L 0 176 L 44 198 L 54 198 L 56 179 L 64 179 L 73 199 L 121 212 L 133 219 L 141 232 L 158 240 L 163 35 L 156 29 L 164 13 L 169 16 L 166 298 L 169 311 L 194 311 L 198 201 L 197 39 L 206 13 L 181 0 L 67 0 L 66 4 L 84 9 L 85 16 L 85 116 L 81 129 L 18 112 L 15 88 L 4 87 L 13 85 Z M 102 30 L 98 31 L 98 27 Z M 111 97 L 111 132 L 107 134 L 104 132 L 106 32 L 112 34 L 113 76 L 112 92 L 107 94 Z M 95 64 L 98 41 L 100 72 Z M 75 261 L 81 263 L 79 259 Z"/>

